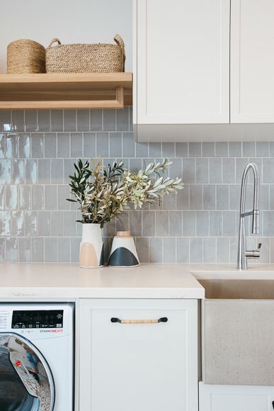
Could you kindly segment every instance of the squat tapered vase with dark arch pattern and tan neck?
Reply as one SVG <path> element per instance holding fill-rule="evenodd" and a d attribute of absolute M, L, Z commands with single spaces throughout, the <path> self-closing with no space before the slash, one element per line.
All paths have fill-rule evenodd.
<path fill-rule="evenodd" d="M 113 238 L 108 265 L 110 267 L 136 267 L 139 264 L 135 242 L 130 231 L 118 231 Z"/>

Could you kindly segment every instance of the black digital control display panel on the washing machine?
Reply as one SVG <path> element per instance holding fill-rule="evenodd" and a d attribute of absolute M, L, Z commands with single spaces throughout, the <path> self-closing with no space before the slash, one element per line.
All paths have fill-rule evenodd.
<path fill-rule="evenodd" d="M 64 310 L 13 311 L 12 328 L 62 328 Z"/>

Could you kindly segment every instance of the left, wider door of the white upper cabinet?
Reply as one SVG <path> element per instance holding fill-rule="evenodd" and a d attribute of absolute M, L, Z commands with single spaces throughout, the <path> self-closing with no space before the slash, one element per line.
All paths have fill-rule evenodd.
<path fill-rule="evenodd" d="M 229 123 L 229 13 L 229 0 L 135 0 L 135 124 Z"/>

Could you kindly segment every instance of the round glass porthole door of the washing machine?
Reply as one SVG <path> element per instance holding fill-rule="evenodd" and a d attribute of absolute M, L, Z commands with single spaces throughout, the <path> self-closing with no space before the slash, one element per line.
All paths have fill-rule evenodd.
<path fill-rule="evenodd" d="M 0 410 L 52 411 L 55 385 L 40 351 L 16 333 L 0 332 Z"/>

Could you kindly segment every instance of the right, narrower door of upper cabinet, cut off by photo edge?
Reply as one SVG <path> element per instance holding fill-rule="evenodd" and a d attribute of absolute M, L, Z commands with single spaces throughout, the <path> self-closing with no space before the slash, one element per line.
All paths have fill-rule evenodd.
<path fill-rule="evenodd" d="M 273 22 L 273 0 L 232 0 L 232 123 L 274 123 Z"/>

